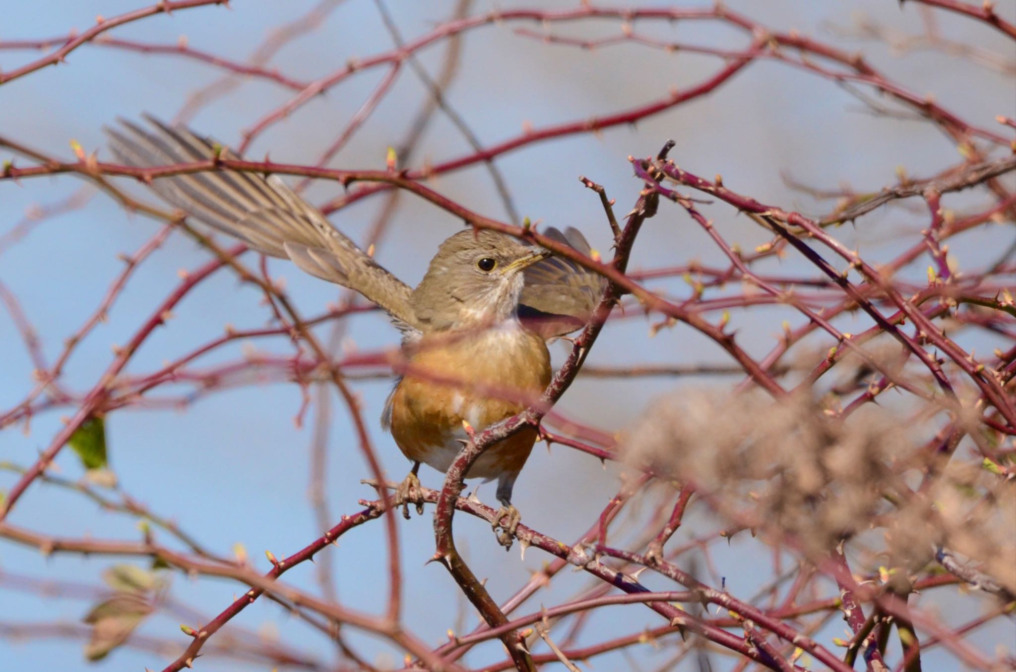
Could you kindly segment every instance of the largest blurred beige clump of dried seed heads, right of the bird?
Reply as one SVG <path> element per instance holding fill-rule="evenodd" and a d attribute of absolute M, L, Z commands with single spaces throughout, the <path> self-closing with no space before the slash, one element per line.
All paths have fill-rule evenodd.
<path fill-rule="evenodd" d="M 692 484 L 732 523 L 824 553 L 893 511 L 916 433 L 875 405 L 839 421 L 807 395 L 692 391 L 657 400 L 622 450 L 635 466 Z M 927 555 L 926 541 L 907 543 Z"/>

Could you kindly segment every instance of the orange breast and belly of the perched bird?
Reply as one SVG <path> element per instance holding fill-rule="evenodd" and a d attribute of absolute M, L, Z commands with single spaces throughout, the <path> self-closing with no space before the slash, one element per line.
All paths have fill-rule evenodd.
<path fill-rule="evenodd" d="M 392 436 L 408 459 L 446 471 L 462 449 L 463 420 L 480 431 L 522 411 L 550 381 L 547 345 L 516 324 L 425 337 L 391 397 Z M 525 428 L 495 444 L 467 476 L 517 473 L 535 440 Z"/>

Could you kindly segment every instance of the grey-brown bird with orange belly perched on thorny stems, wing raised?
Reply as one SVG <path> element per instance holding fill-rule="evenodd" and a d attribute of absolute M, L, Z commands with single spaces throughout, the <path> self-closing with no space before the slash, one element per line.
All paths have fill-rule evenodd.
<path fill-rule="evenodd" d="M 238 159 L 228 147 L 145 115 L 147 126 L 119 120 L 106 129 L 120 162 L 136 167 Z M 381 267 L 277 176 L 216 171 L 155 178 L 149 186 L 188 216 L 303 271 L 360 292 L 383 309 L 401 332 L 404 372 L 382 413 L 402 454 L 412 462 L 396 500 L 419 499 L 421 464 L 447 471 L 470 433 L 530 405 L 548 387 L 547 342 L 582 327 L 606 281 L 578 264 L 511 236 L 459 230 L 438 248 L 416 288 Z M 573 227 L 544 234 L 592 256 Z M 520 520 L 512 505 L 515 480 L 538 438 L 523 427 L 486 450 L 466 478 L 497 480 L 502 505 L 494 517 L 503 545 Z M 403 506 L 408 517 L 408 509 Z M 505 521 L 502 523 L 502 521 Z"/>

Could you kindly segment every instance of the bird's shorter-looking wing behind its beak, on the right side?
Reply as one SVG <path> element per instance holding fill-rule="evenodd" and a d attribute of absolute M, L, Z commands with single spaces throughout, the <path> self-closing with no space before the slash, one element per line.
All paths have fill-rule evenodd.
<path fill-rule="evenodd" d="M 592 250 L 578 229 L 562 233 L 550 226 L 544 236 L 590 257 Z M 525 286 L 519 299 L 519 317 L 526 326 L 550 339 L 581 328 L 592 316 L 607 286 L 601 275 L 564 257 L 548 257 L 524 271 Z"/>

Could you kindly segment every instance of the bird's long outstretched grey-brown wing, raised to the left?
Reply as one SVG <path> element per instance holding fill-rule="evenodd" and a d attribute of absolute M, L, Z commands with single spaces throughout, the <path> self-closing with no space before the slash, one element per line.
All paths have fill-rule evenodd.
<path fill-rule="evenodd" d="M 221 158 L 238 158 L 184 127 L 145 118 L 150 129 L 124 120 L 118 128 L 106 129 L 117 160 L 150 167 L 204 161 L 216 151 Z M 292 259 L 315 277 L 359 291 L 384 309 L 407 335 L 417 330 L 411 288 L 375 263 L 277 176 L 203 172 L 155 178 L 151 187 L 188 215 L 254 250 Z"/>

